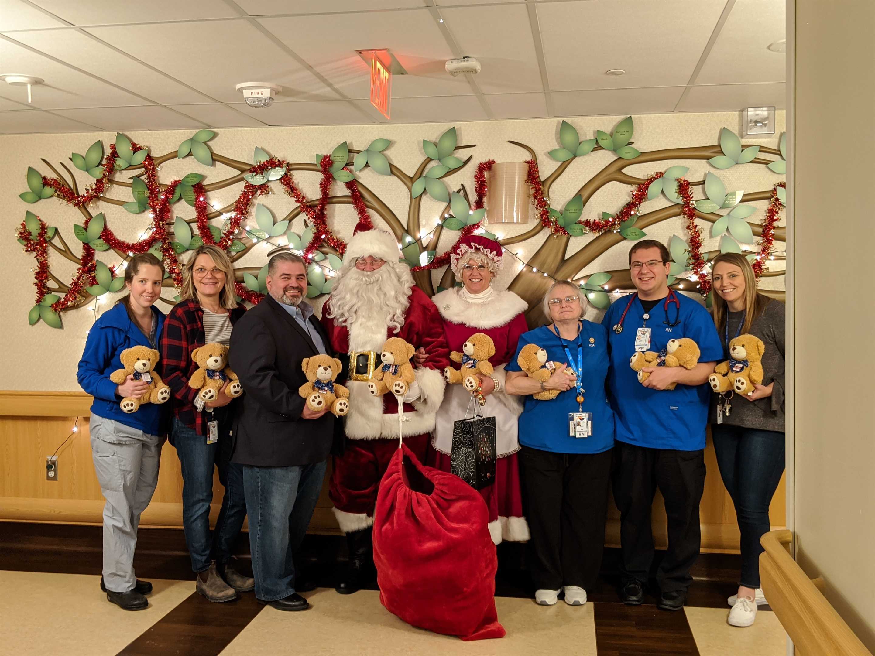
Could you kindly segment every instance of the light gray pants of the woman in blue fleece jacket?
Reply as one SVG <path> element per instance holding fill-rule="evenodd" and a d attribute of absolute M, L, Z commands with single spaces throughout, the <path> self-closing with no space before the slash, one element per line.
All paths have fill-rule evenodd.
<path fill-rule="evenodd" d="M 140 513 L 158 485 L 163 438 L 91 415 L 91 454 L 107 500 L 103 506 L 103 583 L 107 590 L 134 589 L 134 550 Z"/>

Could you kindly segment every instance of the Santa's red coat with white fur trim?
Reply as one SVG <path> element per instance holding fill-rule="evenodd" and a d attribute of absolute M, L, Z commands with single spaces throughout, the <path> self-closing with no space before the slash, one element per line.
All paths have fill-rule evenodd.
<path fill-rule="evenodd" d="M 404 323 L 397 332 L 384 321 L 375 325 L 360 320 L 353 325 L 337 325 L 331 314 L 331 298 L 322 310 L 322 324 L 336 352 L 374 351 L 390 337 L 405 339 L 415 348 L 422 347 L 428 355 L 422 367 L 416 367 L 416 382 L 422 395 L 413 403 L 404 403 L 403 436 L 417 436 L 434 429 L 435 415 L 444 400 L 444 367 L 451 366 L 450 349 L 444 337 L 444 328 L 435 304 L 423 290 L 410 290 L 409 305 Z M 367 391 L 367 382 L 347 380 L 349 414 L 345 417 L 346 436 L 353 440 L 398 438 L 398 404 L 393 394 L 374 396 Z"/>

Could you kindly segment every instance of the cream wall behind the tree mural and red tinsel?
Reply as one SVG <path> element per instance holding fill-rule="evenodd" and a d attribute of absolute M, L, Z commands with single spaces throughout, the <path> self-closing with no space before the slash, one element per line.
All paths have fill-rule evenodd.
<path fill-rule="evenodd" d="M 595 136 L 596 129 L 613 129 L 613 126 L 623 118 L 622 116 L 603 116 L 568 119 L 579 131 L 581 138 Z M 745 139 L 745 143 L 760 143 L 764 146 L 777 147 L 778 138 L 784 129 L 784 112 L 778 112 L 777 134 L 763 139 Z M 493 158 L 502 161 L 523 161 L 527 156 L 524 150 L 507 143 L 507 140 L 515 140 L 527 143 L 538 154 L 542 175 L 552 171 L 556 163 L 546 156 L 548 150 L 558 147 L 559 119 L 542 119 L 527 121 L 495 121 L 495 122 L 464 122 L 457 125 L 459 144 L 477 144 L 476 148 L 459 151 L 463 157 L 472 156 L 472 163 L 464 170 L 447 179 L 452 188 L 458 188 L 464 184 L 469 192 L 472 191 L 472 178 L 474 167 L 480 161 Z M 634 116 L 635 130 L 634 142 L 639 150 L 659 150 L 678 148 L 683 146 L 703 146 L 718 143 L 720 129 L 728 127 L 737 134 L 740 132 L 739 113 L 722 114 L 681 114 L 681 115 L 639 115 Z M 353 148 L 367 148 L 367 144 L 377 137 L 392 140 L 392 144 L 386 150 L 389 159 L 403 171 L 412 173 L 422 161 L 422 139 L 436 140 L 450 124 L 438 125 L 428 123 L 423 125 L 379 125 L 379 126 L 342 126 L 342 127 L 311 127 L 311 128 L 269 128 L 269 129 L 221 129 L 218 135 L 210 142 L 215 152 L 228 157 L 234 157 L 244 161 L 252 160 L 254 147 L 262 146 L 272 154 L 288 159 L 290 162 L 311 163 L 316 153 L 330 152 L 338 143 L 346 140 Z M 164 132 L 131 132 L 130 138 L 138 143 L 151 146 L 151 152 L 156 155 L 168 151 L 177 150 L 179 143 L 191 136 L 188 131 L 164 131 Z M 25 210 L 31 209 L 38 213 L 49 225 L 59 227 L 71 248 L 78 253 L 79 242 L 72 234 L 73 223 L 81 223 L 81 214 L 69 206 L 62 205 L 56 199 L 40 201 L 34 206 L 28 206 L 18 199 L 18 193 L 26 191 L 25 172 L 28 166 L 35 166 L 38 171 L 51 175 L 48 167 L 40 161 L 45 157 L 49 162 L 57 166 L 59 161 L 67 164 L 71 151 L 84 153 L 91 143 L 101 138 L 105 147 L 109 146 L 115 137 L 111 133 L 88 133 L 73 135 L 17 135 L 0 136 L 0 179 L 4 181 L 0 185 L 0 207 L 4 210 L 4 239 L 0 240 L 0 257 L 6 263 L 4 280 L 4 338 L 6 343 L 13 345 L 8 348 L 4 356 L 4 365 L 0 367 L 0 389 L 26 389 L 26 390 L 76 390 L 78 386 L 75 380 L 76 363 L 81 357 L 82 345 L 86 331 L 94 321 L 94 313 L 87 308 L 66 312 L 64 329 L 59 331 L 42 324 L 35 326 L 27 325 L 27 312 L 31 309 L 34 300 L 31 268 L 34 261 L 31 255 L 23 252 L 12 236 L 12 229 L 25 218 Z M 570 199 L 570 196 L 600 171 L 606 164 L 614 159 L 613 153 L 595 152 L 586 157 L 577 159 L 565 171 L 563 176 L 556 181 L 550 192 L 552 205 L 562 208 Z M 631 164 L 627 173 L 634 176 L 647 177 L 654 171 L 664 171 L 670 165 L 684 164 L 690 166 L 688 174 L 691 180 L 702 180 L 706 171 L 718 173 L 724 180 L 727 190 L 746 190 L 747 192 L 768 191 L 774 183 L 784 179 L 783 176 L 768 171 L 761 164 L 746 164 L 736 166 L 727 171 L 713 169 L 706 161 L 684 161 L 669 159 L 653 164 Z M 71 166 L 72 168 L 72 166 Z M 75 171 L 75 169 L 73 169 Z M 159 179 L 169 182 L 173 178 L 179 178 L 188 172 L 196 171 L 207 174 L 206 182 L 226 178 L 235 173 L 221 164 L 216 164 L 213 169 L 197 164 L 192 157 L 184 160 L 172 159 L 161 166 Z M 87 178 L 80 171 L 81 185 L 87 185 L 91 178 Z M 128 176 L 123 172 L 120 179 Z M 361 171 L 359 178 L 399 217 L 406 217 L 409 206 L 409 196 L 406 188 L 395 178 L 385 178 L 376 175 L 366 169 Z M 296 180 L 303 187 L 309 197 L 314 198 L 317 194 L 318 178 L 315 173 L 303 172 L 296 175 Z M 280 192 L 276 183 L 276 193 L 262 197 L 262 202 L 274 211 L 275 215 L 282 216 L 288 212 L 293 204 L 290 199 Z M 234 185 L 218 192 L 210 194 L 210 201 L 218 200 L 223 205 L 231 202 L 239 194 L 240 185 Z M 701 197 L 701 187 L 697 187 L 697 197 Z M 600 217 L 603 211 L 615 213 L 629 199 L 628 185 L 606 185 L 596 193 L 590 203 L 584 208 L 584 217 Z M 335 184 L 334 193 L 346 193 L 339 184 Z M 130 200 L 130 190 L 123 187 L 114 187 L 109 190 L 109 196 L 116 199 Z M 759 223 L 763 217 L 766 201 L 752 203 L 757 207 L 757 213 L 749 219 Z M 669 205 L 666 199 L 648 201 L 643 206 L 643 212 L 650 212 L 661 206 Z M 189 218 L 193 216 L 193 208 L 183 202 L 179 202 L 174 209 L 180 216 Z M 424 199 L 422 206 L 422 225 L 430 229 L 437 222 L 443 205 L 432 199 Z M 95 205 L 93 212 L 104 212 L 107 223 L 113 231 L 123 239 L 134 241 L 143 232 L 146 220 L 144 214 L 134 215 L 127 213 L 119 206 L 110 206 L 106 203 Z M 348 238 L 352 234 L 355 223 L 355 214 L 350 206 L 330 206 L 328 213 L 329 224 L 335 227 L 337 233 Z M 379 218 L 375 218 L 377 225 L 381 224 Z M 406 222 L 406 221 L 405 221 Z M 709 225 L 703 224 L 706 230 Z M 783 225 L 783 221 L 781 222 Z M 521 234 L 528 226 L 499 227 L 494 231 L 501 237 Z M 293 229 L 300 234 L 303 230 L 302 219 L 298 218 L 293 224 Z M 648 227 L 648 237 L 667 241 L 672 234 L 685 236 L 683 220 L 676 217 L 662 221 L 658 225 Z M 444 234 L 440 243 L 440 249 L 448 248 L 455 239 L 454 233 Z M 535 250 L 548 239 L 546 231 L 535 238 L 514 247 L 520 250 L 523 257 L 530 256 Z M 571 252 L 582 248 L 591 238 L 582 237 L 571 241 Z M 718 248 L 718 240 L 709 238 L 705 241 L 706 249 Z M 782 244 L 776 244 L 777 248 L 783 248 Z M 265 255 L 269 247 L 260 246 L 252 254 L 248 254 L 238 264 L 240 266 L 261 266 L 265 262 Z M 612 269 L 624 269 L 627 262 L 627 243 L 620 243 L 611 248 L 597 260 L 591 262 L 582 273 L 593 273 Z M 58 254 L 50 251 L 52 272 L 62 280 L 69 281 L 75 270 L 75 264 L 69 262 Z M 116 255 L 111 251 L 98 254 L 99 259 L 108 265 L 118 262 Z M 774 269 L 782 269 L 782 262 L 771 262 Z M 502 272 L 499 284 L 504 286 L 510 282 L 511 276 L 517 269 L 508 266 Z M 436 281 L 439 276 L 435 276 Z M 784 289 L 783 276 L 764 278 L 761 287 L 765 289 Z M 172 297 L 172 292 L 165 292 L 165 296 Z M 102 308 L 107 305 L 100 306 Z M 166 306 L 163 309 L 167 310 Z M 592 317 L 591 318 L 595 318 Z"/>

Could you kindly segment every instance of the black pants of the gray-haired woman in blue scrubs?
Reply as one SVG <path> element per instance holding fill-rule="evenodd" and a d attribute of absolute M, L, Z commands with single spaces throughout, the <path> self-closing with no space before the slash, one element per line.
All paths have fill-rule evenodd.
<path fill-rule="evenodd" d="M 601 453 L 520 450 L 522 499 L 537 590 L 592 590 L 605 548 L 613 449 Z"/>

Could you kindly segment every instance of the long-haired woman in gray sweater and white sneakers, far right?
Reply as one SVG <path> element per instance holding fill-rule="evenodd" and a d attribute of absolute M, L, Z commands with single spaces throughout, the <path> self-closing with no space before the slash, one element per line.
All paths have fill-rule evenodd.
<path fill-rule="evenodd" d="M 714 394 L 710 416 L 720 476 L 741 533 L 739 592 L 729 597 L 728 622 L 750 626 L 757 606 L 766 604 L 760 590 L 760 538 L 769 530 L 768 508 L 784 472 L 784 304 L 757 293 L 751 264 L 738 253 L 714 258 L 711 281 L 724 358 L 729 359 L 728 343 L 738 335 L 755 335 L 766 345 L 762 384 L 750 394 Z"/>

